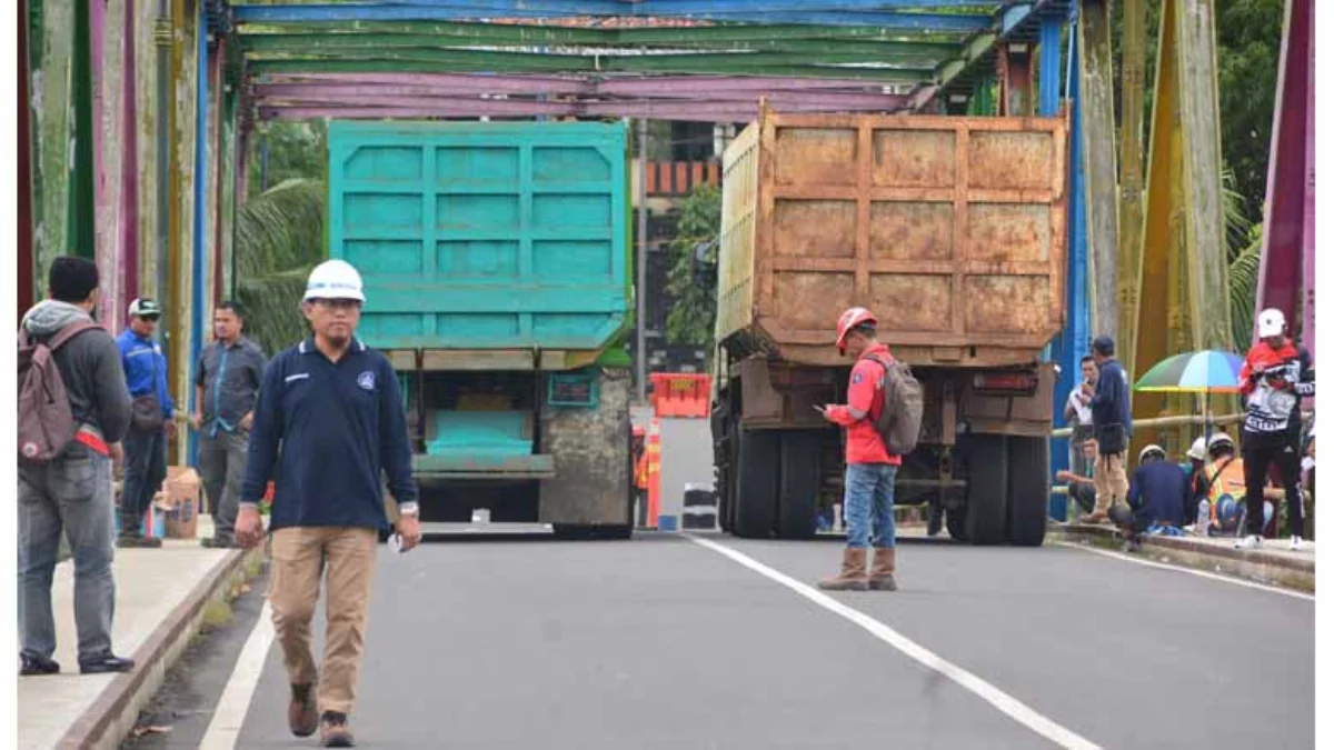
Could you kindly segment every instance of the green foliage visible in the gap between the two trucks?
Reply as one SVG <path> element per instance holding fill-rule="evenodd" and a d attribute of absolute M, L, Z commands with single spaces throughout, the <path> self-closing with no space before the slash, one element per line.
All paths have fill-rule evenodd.
<path fill-rule="evenodd" d="M 723 195 L 714 185 L 699 185 L 682 203 L 676 238 L 671 242 L 672 267 L 667 294 L 676 300 L 667 314 L 667 343 L 712 350 L 718 302 L 718 232 Z M 702 262 L 695 248 L 707 244 Z"/>

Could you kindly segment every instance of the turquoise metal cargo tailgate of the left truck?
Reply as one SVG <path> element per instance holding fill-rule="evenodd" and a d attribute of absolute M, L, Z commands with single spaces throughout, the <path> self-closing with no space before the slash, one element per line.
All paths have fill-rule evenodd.
<path fill-rule="evenodd" d="M 626 323 L 624 124 L 335 121 L 328 143 L 368 344 L 598 350 Z"/>

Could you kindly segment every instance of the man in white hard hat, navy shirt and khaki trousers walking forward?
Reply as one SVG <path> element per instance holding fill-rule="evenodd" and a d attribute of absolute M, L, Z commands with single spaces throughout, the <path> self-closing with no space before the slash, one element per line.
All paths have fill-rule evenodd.
<path fill-rule="evenodd" d="M 259 499 L 272 478 L 269 605 L 292 686 L 288 729 L 297 737 L 319 729 L 325 747 L 352 746 L 348 714 L 378 532 L 388 527 L 382 474 L 399 502 L 403 550 L 422 538 L 399 382 L 390 360 L 355 336 L 364 300 L 362 276 L 348 263 L 328 260 L 311 272 L 301 311 L 312 335 L 264 372 L 236 518 L 236 540 L 257 543 Z M 328 626 L 317 669 L 311 618 L 324 570 Z"/>

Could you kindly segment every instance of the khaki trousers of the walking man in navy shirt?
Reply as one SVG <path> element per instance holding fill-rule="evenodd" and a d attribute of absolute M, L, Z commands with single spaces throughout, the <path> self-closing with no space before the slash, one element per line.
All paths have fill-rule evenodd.
<path fill-rule="evenodd" d="M 269 607 L 273 630 L 292 685 L 319 682 L 319 711 L 352 713 L 356 679 L 366 647 L 366 614 L 371 605 L 375 550 L 371 528 L 346 526 L 288 527 L 273 531 L 273 579 Z M 312 654 L 311 619 L 327 575 L 324 663 Z"/>

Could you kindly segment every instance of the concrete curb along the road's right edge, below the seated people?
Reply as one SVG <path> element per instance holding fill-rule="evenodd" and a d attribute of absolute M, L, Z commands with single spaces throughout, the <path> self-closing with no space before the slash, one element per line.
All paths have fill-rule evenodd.
<path fill-rule="evenodd" d="M 1047 539 L 1098 547 L 1119 546 L 1121 532 L 1106 526 L 1059 526 L 1047 530 Z M 1218 573 L 1282 586 L 1307 594 L 1315 593 L 1315 558 L 1293 558 L 1267 550 L 1234 550 L 1210 544 L 1193 536 L 1150 536 L 1142 544 L 1142 554 L 1194 570 Z"/>

